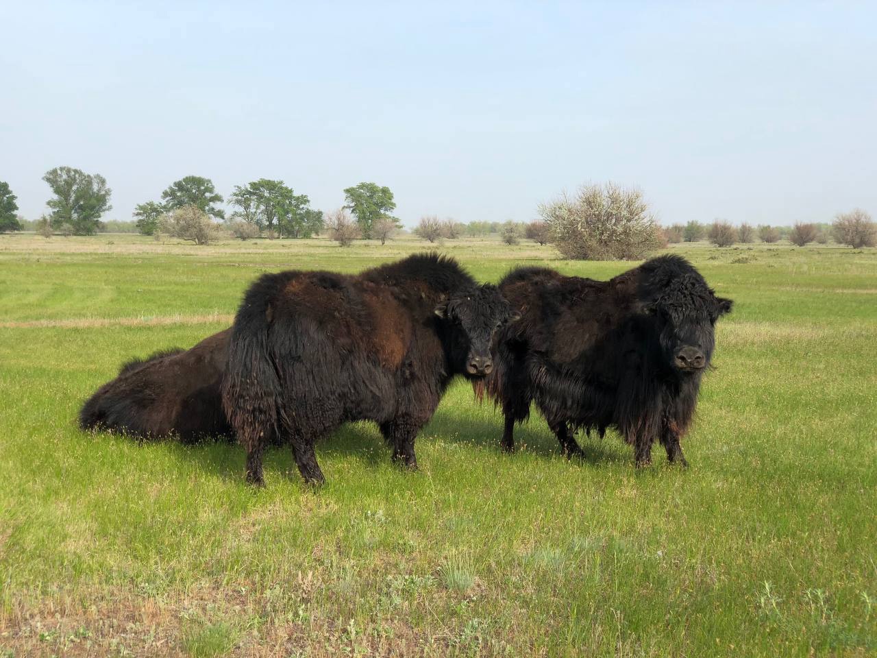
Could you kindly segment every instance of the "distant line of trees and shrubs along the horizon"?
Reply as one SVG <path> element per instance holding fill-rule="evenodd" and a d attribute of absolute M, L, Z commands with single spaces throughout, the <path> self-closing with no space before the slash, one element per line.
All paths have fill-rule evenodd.
<path fill-rule="evenodd" d="M 346 247 L 359 239 L 384 244 L 402 228 L 399 218 L 392 214 L 396 210 L 393 192 L 374 182 L 346 188 L 345 204 L 324 213 L 310 207 L 307 195 L 296 194 L 280 180 L 260 178 L 235 185 L 226 200 L 209 178 L 189 175 L 168 185 L 160 200 L 138 204 L 133 221 L 102 221 L 103 214 L 112 208 L 112 190 L 102 175 L 56 167 L 47 171 L 43 180 L 53 193 L 46 201 L 50 212 L 30 221 L 17 214 L 16 196 L 6 182 L 0 181 L 0 232 L 31 229 L 46 238 L 55 232 L 167 233 L 199 245 L 228 234 L 249 240 L 260 236 L 310 238 L 326 232 Z M 231 208 L 228 214 L 222 204 Z M 414 232 L 430 242 L 499 234 L 504 242 L 515 245 L 525 237 L 540 245 L 553 244 L 561 255 L 576 260 L 636 260 L 668 243 L 702 240 L 718 247 L 779 240 L 800 247 L 811 242 L 826 244 L 832 239 L 857 248 L 877 243 L 877 226 L 866 211 L 859 209 L 838 214 L 831 224 L 752 226 L 716 219 L 709 225 L 691 221 L 662 227 L 641 191 L 611 182 L 585 185 L 574 194 L 563 194 L 551 203 L 541 204 L 538 213 L 540 219 L 526 224 L 463 224 L 453 218 L 424 215 Z"/>

